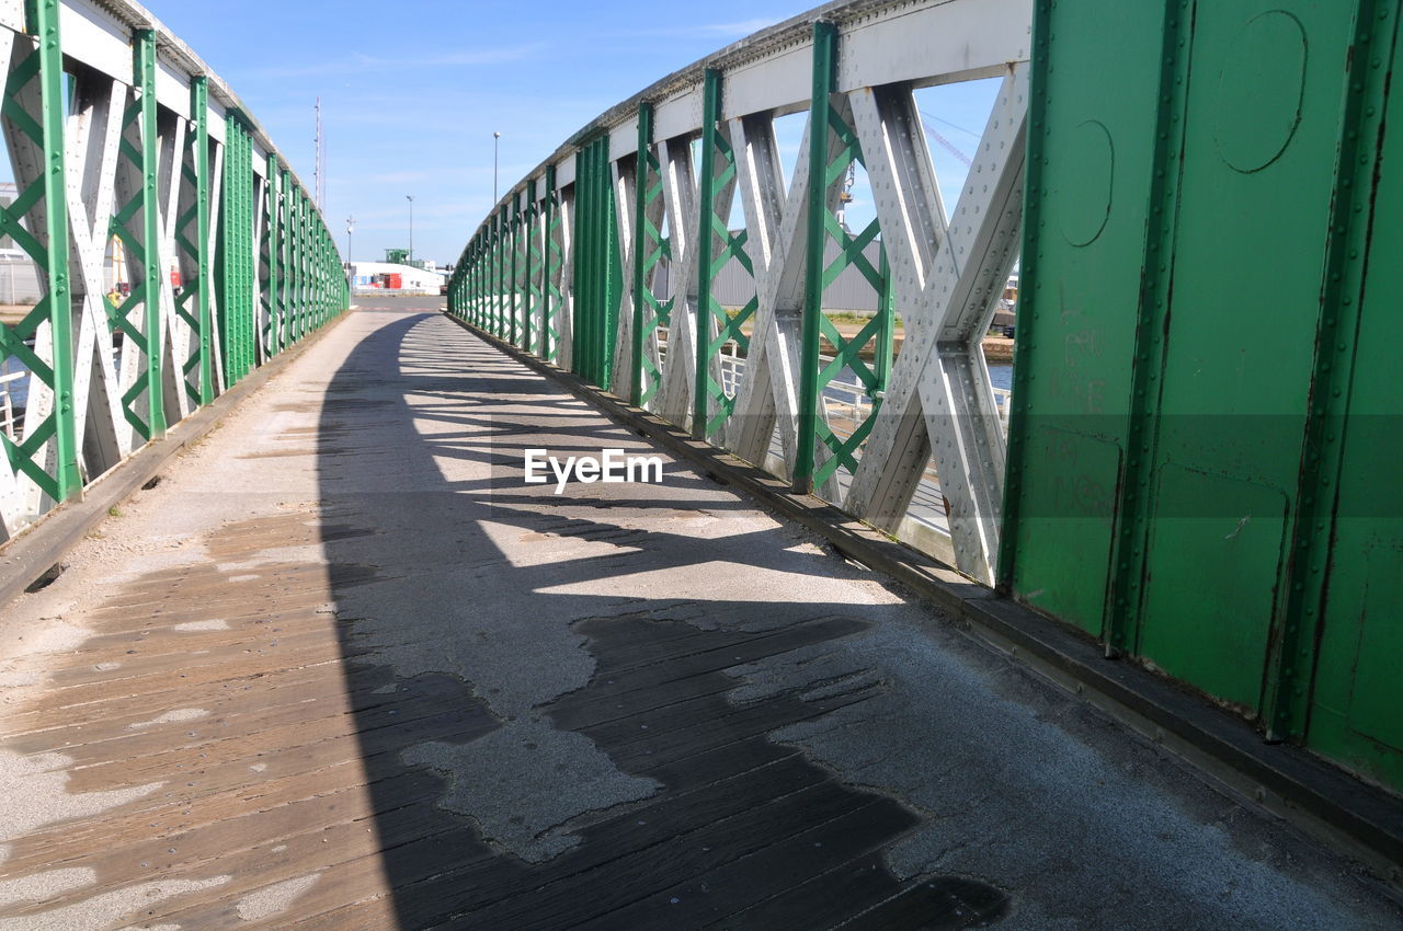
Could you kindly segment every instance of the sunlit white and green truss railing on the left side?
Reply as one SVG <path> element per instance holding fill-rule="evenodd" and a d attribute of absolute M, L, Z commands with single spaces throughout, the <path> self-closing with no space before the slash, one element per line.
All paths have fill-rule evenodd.
<path fill-rule="evenodd" d="M 0 70 L 18 188 L 3 220 L 41 292 L 0 324 L 0 360 L 29 380 L 22 419 L 7 400 L 0 430 L 3 540 L 348 300 L 290 165 L 140 6 L 3 3 Z M 116 299 L 114 238 L 133 275 Z"/>

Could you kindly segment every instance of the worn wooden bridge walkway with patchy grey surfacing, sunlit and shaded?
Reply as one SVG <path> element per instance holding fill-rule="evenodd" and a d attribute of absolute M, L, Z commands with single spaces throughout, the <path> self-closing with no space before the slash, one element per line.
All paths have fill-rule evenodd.
<path fill-rule="evenodd" d="M 643 444 L 419 303 L 7 611 L 0 930 L 1396 927 L 725 488 L 523 485 Z"/>

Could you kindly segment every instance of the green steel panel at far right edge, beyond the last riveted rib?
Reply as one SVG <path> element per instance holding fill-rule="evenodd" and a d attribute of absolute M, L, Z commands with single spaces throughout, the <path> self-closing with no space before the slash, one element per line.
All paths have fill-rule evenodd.
<path fill-rule="evenodd" d="M 1403 59 L 1395 20 L 1393 49 L 1378 18 L 1374 48 L 1360 57 L 1369 70 L 1393 70 Z M 1374 62 L 1381 62 L 1379 69 Z M 1347 415 L 1327 429 L 1343 443 L 1330 526 L 1327 589 L 1322 603 L 1319 663 L 1306 740 L 1374 780 L 1403 788 L 1403 482 L 1399 481 L 1403 401 L 1403 93 L 1386 105 L 1388 136 L 1376 143 L 1381 170 L 1372 189 L 1374 216 L 1362 258 L 1368 261 L 1360 318 L 1336 344 L 1352 352 Z M 1375 147 L 1376 133 L 1365 136 Z M 1361 154 L 1361 160 L 1368 151 Z M 1361 164 L 1361 168 L 1372 168 Z M 1372 172 L 1371 172 L 1372 174 Z"/>

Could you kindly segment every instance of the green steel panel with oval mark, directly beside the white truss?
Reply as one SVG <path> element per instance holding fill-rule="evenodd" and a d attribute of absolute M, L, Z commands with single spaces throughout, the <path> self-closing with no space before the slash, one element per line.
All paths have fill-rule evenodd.
<path fill-rule="evenodd" d="M 1058 6 L 1055 28 L 1054 57 L 1040 3 L 1000 575 L 1016 597 L 1101 635 L 1164 22 L 1087 0 Z"/>

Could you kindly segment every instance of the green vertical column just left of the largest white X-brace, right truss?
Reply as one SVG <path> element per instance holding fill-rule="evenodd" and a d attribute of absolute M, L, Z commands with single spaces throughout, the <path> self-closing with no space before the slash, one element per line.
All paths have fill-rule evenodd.
<path fill-rule="evenodd" d="M 824 216 L 828 210 L 829 94 L 833 90 L 832 22 L 814 24 L 814 86 L 808 107 L 808 203 L 804 226 L 804 320 L 800 345 L 798 447 L 794 450 L 794 489 L 814 489 L 814 443 L 818 436 L 818 318 L 824 314 Z"/>

